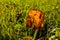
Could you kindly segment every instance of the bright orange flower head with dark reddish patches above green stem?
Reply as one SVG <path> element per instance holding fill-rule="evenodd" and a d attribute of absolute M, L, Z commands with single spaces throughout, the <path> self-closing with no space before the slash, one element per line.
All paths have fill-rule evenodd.
<path fill-rule="evenodd" d="M 27 26 L 31 26 L 33 24 L 35 29 L 44 27 L 44 13 L 42 11 L 32 9 L 29 11 L 28 16 Z"/>

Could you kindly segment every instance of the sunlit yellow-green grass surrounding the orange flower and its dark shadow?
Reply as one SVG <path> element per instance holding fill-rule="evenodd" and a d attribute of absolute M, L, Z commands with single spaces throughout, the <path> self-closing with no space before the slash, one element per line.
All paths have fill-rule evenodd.
<path fill-rule="evenodd" d="M 44 22 L 47 26 L 46 36 L 42 37 L 42 40 L 49 40 L 53 34 L 58 37 L 53 40 L 60 39 L 60 29 L 52 32 L 55 28 L 60 28 L 60 0 L 0 0 L 0 40 L 34 39 L 31 36 L 33 29 L 26 27 L 30 9 L 44 12 Z M 20 14 L 19 19 L 17 14 Z M 27 38 L 24 38 L 25 36 Z"/>

